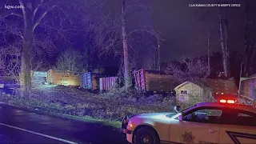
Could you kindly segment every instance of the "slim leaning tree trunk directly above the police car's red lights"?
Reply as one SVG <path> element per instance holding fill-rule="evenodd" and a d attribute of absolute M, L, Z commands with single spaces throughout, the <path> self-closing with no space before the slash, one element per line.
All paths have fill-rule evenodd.
<path fill-rule="evenodd" d="M 223 31 L 222 31 L 222 17 L 220 8 L 218 9 L 218 18 L 219 18 L 219 30 L 221 34 L 221 46 L 222 46 L 222 64 L 225 76 L 227 76 L 227 66 L 226 66 L 226 48 L 224 45 Z"/>

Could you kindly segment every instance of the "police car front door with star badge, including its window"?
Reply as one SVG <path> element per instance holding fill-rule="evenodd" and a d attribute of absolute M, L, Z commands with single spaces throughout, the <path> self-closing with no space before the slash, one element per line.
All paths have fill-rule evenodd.
<path fill-rule="evenodd" d="M 170 125 L 170 142 L 218 143 L 221 114 L 217 107 L 200 107 L 182 114 L 182 121 Z"/>

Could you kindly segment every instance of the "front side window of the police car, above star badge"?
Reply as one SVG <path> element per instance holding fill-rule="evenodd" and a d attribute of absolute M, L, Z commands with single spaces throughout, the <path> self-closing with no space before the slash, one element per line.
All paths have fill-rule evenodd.
<path fill-rule="evenodd" d="M 222 110 L 218 109 L 201 109 L 195 110 L 183 116 L 183 121 L 202 122 L 202 123 L 218 123 L 222 115 Z"/>

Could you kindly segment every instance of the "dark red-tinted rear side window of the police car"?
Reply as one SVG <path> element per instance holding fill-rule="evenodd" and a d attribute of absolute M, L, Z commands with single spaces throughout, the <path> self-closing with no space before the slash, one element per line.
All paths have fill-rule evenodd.
<path fill-rule="evenodd" d="M 256 114 L 237 109 L 227 109 L 221 118 L 221 123 L 226 125 L 256 126 Z"/>

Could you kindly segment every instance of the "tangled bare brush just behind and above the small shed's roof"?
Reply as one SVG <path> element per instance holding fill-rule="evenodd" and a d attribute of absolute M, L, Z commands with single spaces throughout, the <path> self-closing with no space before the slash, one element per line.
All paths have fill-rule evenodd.
<path fill-rule="evenodd" d="M 174 78 L 176 78 L 178 82 L 198 82 L 210 75 L 209 66 L 202 60 L 197 60 L 196 62 L 184 60 L 183 62 L 185 63 L 184 70 L 182 70 L 182 66 L 170 62 L 168 66 L 166 66 L 166 74 L 174 75 Z"/>

